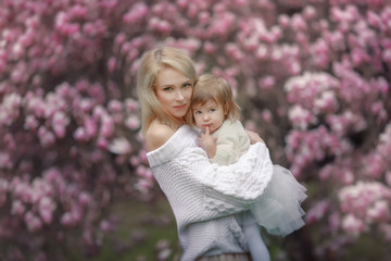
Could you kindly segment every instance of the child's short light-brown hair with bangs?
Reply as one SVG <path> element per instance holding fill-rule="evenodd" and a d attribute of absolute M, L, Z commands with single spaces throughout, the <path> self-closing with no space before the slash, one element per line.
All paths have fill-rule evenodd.
<path fill-rule="evenodd" d="M 194 84 L 191 109 L 186 115 L 186 122 L 189 125 L 195 125 L 192 107 L 205 104 L 209 100 L 223 104 L 224 110 L 227 112 L 226 120 L 235 121 L 239 119 L 240 107 L 234 100 L 232 89 L 228 82 L 223 77 L 204 74 Z"/>

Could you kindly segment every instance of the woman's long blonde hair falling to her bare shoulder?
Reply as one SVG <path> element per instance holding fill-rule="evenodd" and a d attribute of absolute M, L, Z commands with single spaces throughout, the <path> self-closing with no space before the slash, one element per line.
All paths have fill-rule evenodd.
<path fill-rule="evenodd" d="M 197 73 L 193 61 L 182 50 L 174 47 L 156 48 L 148 51 L 137 74 L 137 91 L 141 105 L 141 129 L 147 132 L 154 120 L 175 128 L 177 123 L 162 107 L 155 95 L 155 82 L 160 70 L 173 67 L 189 77 L 193 84 Z"/>

